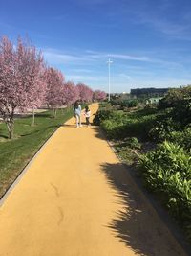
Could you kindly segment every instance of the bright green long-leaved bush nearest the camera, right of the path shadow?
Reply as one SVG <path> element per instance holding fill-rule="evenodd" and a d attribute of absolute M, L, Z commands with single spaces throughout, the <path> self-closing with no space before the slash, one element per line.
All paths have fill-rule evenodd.
<path fill-rule="evenodd" d="M 139 158 L 145 185 L 161 193 L 172 215 L 191 222 L 191 156 L 179 145 L 163 142 L 156 151 Z M 191 228 L 187 228 L 191 235 Z"/>

